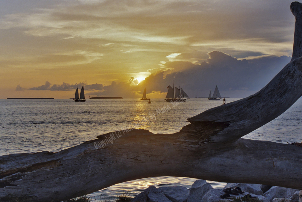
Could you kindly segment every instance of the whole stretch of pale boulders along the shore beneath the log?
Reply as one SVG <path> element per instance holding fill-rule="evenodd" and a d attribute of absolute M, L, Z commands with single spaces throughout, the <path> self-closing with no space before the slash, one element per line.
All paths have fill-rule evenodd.
<path fill-rule="evenodd" d="M 297 189 L 268 186 L 261 184 L 228 183 L 224 188 L 240 187 L 243 194 L 232 195 L 243 197 L 250 194 L 263 202 L 299 202 Z M 191 188 L 182 186 L 173 187 L 148 187 L 134 197 L 131 202 L 228 202 L 232 199 L 222 199 L 225 194 L 223 189 L 214 189 L 206 180 L 196 180 Z"/>

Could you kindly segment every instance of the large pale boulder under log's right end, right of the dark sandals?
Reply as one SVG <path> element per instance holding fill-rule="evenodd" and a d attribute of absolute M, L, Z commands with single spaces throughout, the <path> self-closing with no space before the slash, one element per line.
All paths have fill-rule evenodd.
<path fill-rule="evenodd" d="M 291 197 L 297 189 L 285 188 L 285 187 L 271 187 L 267 192 L 265 192 L 264 196 L 272 202 L 274 198 L 289 198 Z"/>

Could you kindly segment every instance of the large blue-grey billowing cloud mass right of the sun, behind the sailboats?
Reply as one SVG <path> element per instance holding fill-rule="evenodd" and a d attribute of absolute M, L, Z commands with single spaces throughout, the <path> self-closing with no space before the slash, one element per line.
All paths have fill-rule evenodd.
<path fill-rule="evenodd" d="M 225 97 L 246 97 L 263 88 L 291 59 L 288 56 L 262 56 L 238 60 L 219 51 L 208 53 L 207 62 L 188 61 L 165 63 L 174 69 L 164 76 L 163 71 L 150 75 L 138 84 L 150 91 L 166 92 L 166 86 L 181 86 L 190 97 L 207 97 L 210 89 L 218 88 Z M 148 91 L 147 88 L 147 91 Z M 147 92 L 148 93 L 148 92 Z"/>

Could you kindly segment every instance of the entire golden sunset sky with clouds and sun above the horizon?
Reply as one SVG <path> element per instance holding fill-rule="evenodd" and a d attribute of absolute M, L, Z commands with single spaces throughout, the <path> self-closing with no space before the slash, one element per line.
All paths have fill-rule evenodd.
<path fill-rule="evenodd" d="M 0 99 L 245 97 L 290 61 L 291 2 L 1 0 Z"/>

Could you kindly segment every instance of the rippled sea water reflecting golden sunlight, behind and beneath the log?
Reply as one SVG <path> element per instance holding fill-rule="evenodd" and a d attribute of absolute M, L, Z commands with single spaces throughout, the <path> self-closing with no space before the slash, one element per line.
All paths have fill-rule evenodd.
<path fill-rule="evenodd" d="M 226 102 L 236 101 L 226 98 Z M 0 155 L 57 152 L 96 136 L 122 127 L 133 127 L 145 117 L 154 114 L 156 120 L 140 128 L 153 133 L 170 134 L 179 131 L 196 114 L 219 106 L 222 101 L 191 98 L 188 102 L 172 105 L 163 99 L 88 99 L 86 102 L 65 100 L 0 100 Z M 156 109 L 169 106 L 171 110 L 157 115 Z M 302 99 L 275 120 L 260 127 L 244 138 L 279 143 L 300 142 L 302 127 Z M 184 177 L 152 177 L 132 180 L 99 190 L 90 196 L 109 197 L 126 191 L 134 196 L 150 185 L 184 186 L 190 188 L 196 179 Z M 226 183 L 212 182 L 214 188 Z"/>

